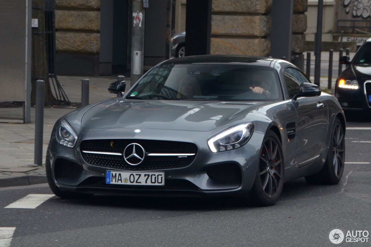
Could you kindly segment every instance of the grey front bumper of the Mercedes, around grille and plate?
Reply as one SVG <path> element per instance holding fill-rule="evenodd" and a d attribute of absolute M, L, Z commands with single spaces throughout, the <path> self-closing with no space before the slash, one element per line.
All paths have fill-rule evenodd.
<path fill-rule="evenodd" d="M 52 177 L 60 190 L 106 195 L 146 195 L 146 196 L 224 196 L 247 195 L 255 180 L 259 164 L 259 150 L 264 135 L 254 132 L 249 142 L 241 148 L 213 153 L 207 146 L 209 132 L 174 131 L 142 129 L 135 134 L 134 129 L 83 129 L 75 148 L 67 148 L 56 142 L 55 135 L 50 140 L 50 164 Z M 105 172 L 129 171 L 111 167 L 88 164 L 82 157 L 79 144 L 86 139 L 149 139 L 166 141 L 193 142 L 198 152 L 194 161 L 183 168 L 145 170 L 165 173 L 165 185 L 108 185 L 105 184 Z M 166 138 L 164 138 L 166 137 Z M 181 137 L 181 138 L 180 138 Z M 56 179 L 56 161 L 69 161 L 79 166 L 81 172 L 74 178 Z M 241 174 L 239 182 L 216 181 L 211 178 L 212 169 L 238 168 Z M 131 171 L 135 172 L 135 171 Z"/>

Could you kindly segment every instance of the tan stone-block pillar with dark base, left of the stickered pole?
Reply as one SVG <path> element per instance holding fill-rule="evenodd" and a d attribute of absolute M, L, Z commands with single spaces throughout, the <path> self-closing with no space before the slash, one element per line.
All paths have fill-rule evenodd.
<path fill-rule="evenodd" d="M 56 0 L 55 28 L 57 72 L 101 74 L 101 0 Z"/>

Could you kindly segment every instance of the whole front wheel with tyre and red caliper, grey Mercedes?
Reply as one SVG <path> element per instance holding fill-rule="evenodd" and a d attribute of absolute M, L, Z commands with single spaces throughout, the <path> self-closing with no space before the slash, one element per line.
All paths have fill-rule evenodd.
<path fill-rule="evenodd" d="M 276 203 L 283 187 L 283 155 L 278 136 L 268 131 L 260 150 L 259 165 L 249 200 L 255 205 Z"/>

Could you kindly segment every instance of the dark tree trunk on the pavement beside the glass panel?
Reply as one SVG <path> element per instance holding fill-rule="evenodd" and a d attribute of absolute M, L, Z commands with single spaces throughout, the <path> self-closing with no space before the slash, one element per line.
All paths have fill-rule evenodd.
<path fill-rule="evenodd" d="M 48 79 L 48 60 L 46 54 L 46 34 L 45 34 L 45 1 L 32 0 L 32 18 L 38 19 L 39 27 L 32 27 L 32 62 L 31 62 L 31 77 L 32 77 L 32 93 L 31 104 L 35 104 L 35 81 L 45 81 L 45 103 L 57 103 L 57 99 L 53 96 Z"/>

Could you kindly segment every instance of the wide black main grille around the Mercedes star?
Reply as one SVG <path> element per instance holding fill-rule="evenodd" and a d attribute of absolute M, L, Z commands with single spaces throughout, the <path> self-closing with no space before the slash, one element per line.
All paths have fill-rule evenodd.
<path fill-rule="evenodd" d="M 82 151 L 96 152 L 116 152 L 123 153 L 127 145 L 137 143 L 141 145 L 147 153 L 192 153 L 197 154 L 197 146 L 190 142 L 175 141 L 152 141 L 139 139 L 99 139 L 85 140 L 80 144 L 81 155 L 88 164 L 102 167 L 112 167 L 127 170 L 156 170 L 181 168 L 190 165 L 196 155 L 178 158 L 177 156 L 145 156 L 143 162 L 132 166 L 125 162 L 123 156 L 109 154 L 91 154 Z"/>

